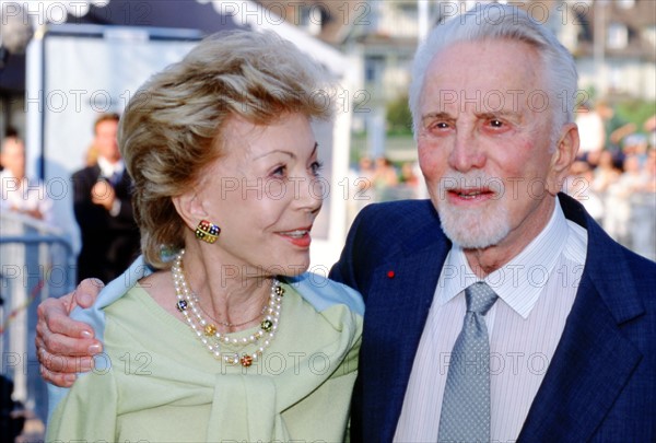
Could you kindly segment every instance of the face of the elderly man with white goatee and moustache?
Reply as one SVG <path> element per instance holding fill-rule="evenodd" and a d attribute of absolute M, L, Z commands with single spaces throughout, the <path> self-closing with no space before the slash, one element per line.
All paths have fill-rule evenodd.
<path fill-rule="evenodd" d="M 464 248 L 520 249 L 549 220 L 551 107 L 541 60 L 525 43 L 459 43 L 426 72 L 419 162 L 447 236 Z"/>

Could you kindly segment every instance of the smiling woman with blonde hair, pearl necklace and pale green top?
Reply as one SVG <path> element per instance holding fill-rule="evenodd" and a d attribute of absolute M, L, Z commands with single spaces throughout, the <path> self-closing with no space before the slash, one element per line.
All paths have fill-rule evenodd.
<path fill-rule="evenodd" d="M 79 318 L 105 343 L 47 441 L 339 441 L 363 304 L 303 273 L 320 70 L 274 35 L 200 43 L 121 118 L 143 256 Z M 318 284 L 320 283 L 320 284 Z"/>

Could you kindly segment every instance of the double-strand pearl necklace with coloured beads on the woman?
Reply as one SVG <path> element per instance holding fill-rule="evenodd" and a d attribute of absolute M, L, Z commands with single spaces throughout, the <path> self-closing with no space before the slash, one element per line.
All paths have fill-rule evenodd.
<path fill-rule="evenodd" d="M 173 267 L 171 268 L 173 285 L 178 300 L 176 303 L 177 310 L 183 314 L 194 333 L 196 333 L 198 339 L 208 348 L 210 353 L 212 353 L 216 360 L 223 360 L 229 364 L 241 363 L 244 368 L 250 366 L 254 361 L 257 361 L 262 355 L 276 337 L 284 289 L 277 279 L 273 279 L 271 294 L 269 295 L 269 304 L 265 308 L 263 314 L 266 315 L 260 323 L 260 328 L 248 337 L 243 337 L 241 339 L 234 337 L 231 338 L 227 334 L 221 334 L 216 330 L 214 324 L 208 323 L 202 317 L 201 310 L 199 310 L 200 305 L 197 305 L 198 298 L 191 292 L 191 289 L 185 279 L 185 272 L 183 271 L 184 255 L 185 249 L 181 249 L 175 257 Z M 243 349 L 248 345 L 259 346 L 251 353 L 243 352 L 242 357 L 238 355 L 238 352 L 224 353 L 221 351 L 222 346 Z"/>

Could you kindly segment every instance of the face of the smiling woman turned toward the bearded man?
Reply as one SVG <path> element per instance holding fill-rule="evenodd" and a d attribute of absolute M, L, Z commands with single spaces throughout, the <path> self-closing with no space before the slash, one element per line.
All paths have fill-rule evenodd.
<path fill-rule="evenodd" d="M 221 235 L 208 247 L 224 276 L 298 275 L 309 266 L 309 231 L 323 201 L 317 142 L 309 120 L 283 116 L 269 126 L 231 119 L 223 155 L 197 189 Z"/>

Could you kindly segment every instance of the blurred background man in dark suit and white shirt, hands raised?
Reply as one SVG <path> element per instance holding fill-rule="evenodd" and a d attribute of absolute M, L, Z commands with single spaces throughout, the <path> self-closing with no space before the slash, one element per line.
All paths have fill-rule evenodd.
<path fill-rule="evenodd" d="M 131 178 L 120 158 L 117 114 L 101 115 L 94 124 L 97 162 L 73 174 L 73 209 L 82 234 L 78 281 L 95 277 L 109 282 L 139 249 L 139 229 L 131 205 Z"/>

